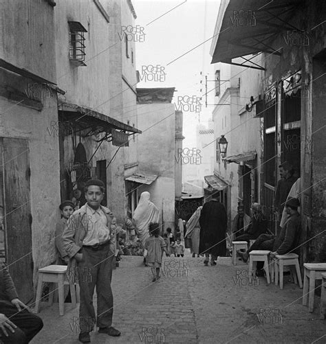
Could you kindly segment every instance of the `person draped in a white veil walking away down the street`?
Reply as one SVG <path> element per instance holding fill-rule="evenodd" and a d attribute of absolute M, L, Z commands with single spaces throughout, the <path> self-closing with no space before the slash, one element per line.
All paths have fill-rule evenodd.
<path fill-rule="evenodd" d="M 138 238 L 144 247 L 145 241 L 149 238 L 149 224 L 158 223 L 160 221 L 160 211 L 151 202 L 151 194 L 145 191 L 140 195 L 139 203 L 133 213 L 133 222 L 138 233 Z M 146 266 L 146 258 L 144 257 Z"/>

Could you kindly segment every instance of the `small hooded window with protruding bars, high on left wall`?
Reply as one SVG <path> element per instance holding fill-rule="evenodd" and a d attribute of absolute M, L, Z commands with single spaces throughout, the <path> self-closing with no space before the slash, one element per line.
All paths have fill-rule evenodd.
<path fill-rule="evenodd" d="M 85 27 L 78 21 L 68 21 L 69 24 L 69 60 L 77 65 L 85 66 Z"/>

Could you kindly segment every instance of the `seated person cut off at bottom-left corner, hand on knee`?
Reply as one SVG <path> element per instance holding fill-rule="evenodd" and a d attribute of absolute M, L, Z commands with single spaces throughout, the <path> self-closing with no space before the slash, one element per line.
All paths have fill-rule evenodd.
<path fill-rule="evenodd" d="M 43 321 L 33 314 L 17 295 L 5 265 L 0 267 L 0 343 L 26 344 L 43 328 Z"/>

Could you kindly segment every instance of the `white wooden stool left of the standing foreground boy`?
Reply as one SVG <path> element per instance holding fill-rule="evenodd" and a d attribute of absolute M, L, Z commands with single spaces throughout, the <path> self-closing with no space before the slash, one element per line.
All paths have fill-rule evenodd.
<path fill-rule="evenodd" d="M 76 290 L 72 282 L 67 281 L 67 266 L 66 265 L 49 265 L 45 268 L 39 268 L 39 282 L 36 290 L 35 312 L 39 313 L 40 301 L 42 296 L 43 282 L 51 282 L 49 290 L 49 304 L 52 306 L 55 284 L 58 284 L 58 298 L 59 298 L 59 314 L 64 314 L 64 284 L 70 285 L 70 295 L 72 296 L 72 305 L 76 307 Z M 79 290 L 78 290 L 79 291 Z"/>

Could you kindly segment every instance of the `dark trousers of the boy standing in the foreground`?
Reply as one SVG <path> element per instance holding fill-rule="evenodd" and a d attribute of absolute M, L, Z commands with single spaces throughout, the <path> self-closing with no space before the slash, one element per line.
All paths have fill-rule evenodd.
<path fill-rule="evenodd" d="M 78 263 L 80 332 L 91 332 L 96 323 L 93 306 L 95 286 L 98 303 L 97 325 L 100 328 L 109 328 L 113 317 L 111 290 L 113 255 L 109 252 L 109 244 L 104 244 L 98 249 L 83 246 L 81 253 L 83 253 L 83 261 Z"/>

